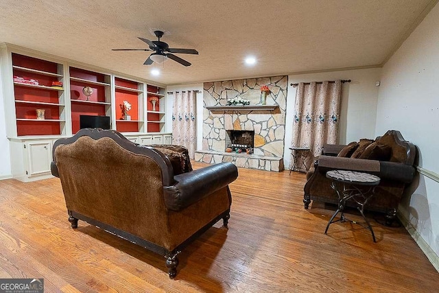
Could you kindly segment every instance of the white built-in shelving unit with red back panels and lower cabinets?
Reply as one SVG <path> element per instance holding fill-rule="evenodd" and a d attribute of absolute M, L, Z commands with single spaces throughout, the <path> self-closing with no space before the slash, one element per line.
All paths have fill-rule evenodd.
<path fill-rule="evenodd" d="M 110 129 L 142 145 L 172 141 L 164 87 L 10 44 L 0 44 L 0 70 L 13 178 L 50 178 L 52 146 L 80 130 L 80 115 L 106 116 Z M 93 91 L 88 97 L 86 86 Z M 123 101 L 131 104 L 129 119 Z"/>

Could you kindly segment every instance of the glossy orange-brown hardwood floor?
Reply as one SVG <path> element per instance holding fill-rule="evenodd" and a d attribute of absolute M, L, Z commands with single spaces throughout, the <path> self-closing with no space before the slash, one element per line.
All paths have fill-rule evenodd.
<path fill-rule="evenodd" d="M 173 281 L 163 256 L 85 222 L 73 231 L 58 178 L 1 180 L 0 278 L 44 278 L 45 292 L 436 292 L 438 272 L 403 227 L 371 220 L 377 243 L 355 224 L 324 235 L 333 210 L 303 209 L 304 184 L 239 169 L 228 230 L 220 221 L 183 250 Z"/>

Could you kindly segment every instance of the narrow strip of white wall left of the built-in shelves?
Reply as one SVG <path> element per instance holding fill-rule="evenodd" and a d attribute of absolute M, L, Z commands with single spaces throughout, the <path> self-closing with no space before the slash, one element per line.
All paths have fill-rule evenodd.
<path fill-rule="evenodd" d="M 0 65 L 1 66 L 1 65 Z M 0 68 L 0 179 L 12 178 L 9 141 L 6 138 L 5 107 Z"/>

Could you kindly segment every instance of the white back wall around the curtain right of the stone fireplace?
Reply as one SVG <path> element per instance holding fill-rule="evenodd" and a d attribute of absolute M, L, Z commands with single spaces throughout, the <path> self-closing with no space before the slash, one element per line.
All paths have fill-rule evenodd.
<path fill-rule="evenodd" d="M 320 82 L 324 80 L 351 80 L 343 84 L 340 109 L 340 143 L 358 141 L 362 138 L 375 138 L 375 119 L 377 112 L 378 87 L 381 68 L 355 69 L 289 75 L 288 84 L 297 82 Z M 288 87 L 287 117 L 285 126 L 285 168 L 290 164 L 290 151 L 293 137 L 294 100 L 296 89 Z"/>

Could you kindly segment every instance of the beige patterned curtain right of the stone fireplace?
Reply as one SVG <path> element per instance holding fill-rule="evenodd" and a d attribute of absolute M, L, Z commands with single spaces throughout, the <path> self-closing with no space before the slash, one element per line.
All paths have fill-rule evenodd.
<path fill-rule="evenodd" d="M 310 148 L 307 168 L 322 154 L 325 143 L 337 143 L 342 81 L 300 82 L 296 91 L 292 147 Z M 291 158 L 294 163 L 293 157 Z M 302 165 L 301 161 L 296 166 Z"/>

